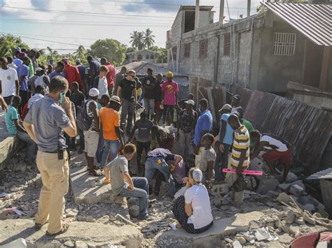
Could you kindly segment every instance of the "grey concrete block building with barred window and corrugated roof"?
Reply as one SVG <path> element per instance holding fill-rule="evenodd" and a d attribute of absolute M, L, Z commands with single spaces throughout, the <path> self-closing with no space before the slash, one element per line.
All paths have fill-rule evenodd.
<path fill-rule="evenodd" d="M 168 67 L 228 89 L 285 94 L 291 81 L 332 92 L 332 6 L 264 5 L 263 13 L 226 24 L 212 23 L 212 6 L 200 6 L 196 29 L 186 22 L 195 6 L 181 6 L 167 31 Z"/>

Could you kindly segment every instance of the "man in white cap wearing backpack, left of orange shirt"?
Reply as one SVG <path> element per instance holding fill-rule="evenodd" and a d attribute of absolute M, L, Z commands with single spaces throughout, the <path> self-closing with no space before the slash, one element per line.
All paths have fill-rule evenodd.
<path fill-rule="evenodd" d="M 77 124 L 84 131 L 85 158 L 88 163 L 89 175 L 99 177 L 94 166 L 99 140 L 99 116 L 97 108 L 99 91 L 92 88 L 89 91 L 89 99 L 82 103 L 78 112 Z"/>

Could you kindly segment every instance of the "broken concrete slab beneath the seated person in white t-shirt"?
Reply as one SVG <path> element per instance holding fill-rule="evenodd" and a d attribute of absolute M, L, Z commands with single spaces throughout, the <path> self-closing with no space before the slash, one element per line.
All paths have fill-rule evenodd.
<path fill-rule="evenodd" d="M 260 219 L 263 215 L 257 211 L 235 214 L 233 217 L 214 221 L 212 228 L 200 234 L 186 233 L 183 229 L 167 231 L 158 237 L 156 243 L 158 247 L 177 247 L 178 240 L 182 240 L 181 247 L 217 247 L 221 238 L 248 231 L 250 222 Z"/>

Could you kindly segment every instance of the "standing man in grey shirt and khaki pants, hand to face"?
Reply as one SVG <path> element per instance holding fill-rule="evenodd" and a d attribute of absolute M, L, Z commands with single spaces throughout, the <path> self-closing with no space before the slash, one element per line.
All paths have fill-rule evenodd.
<path fill-rule="evenodd" d="M 76 122 L 71 101 L 64 96 L 68 90 L 66 78 L 50 80 L 50 93 L 36 101 L 25 117 L 23 126 L 38 145 L 37 167 L 43 187 L 36 214 L 36 229 L 48 221 L 46 235 L 57 235 L 68 230 L 62 224 L 64 195 L 68 191 L 69 159 L 64 132 L 76 136 Z M 60 103 L 61 99 L 61 103 Z"/>

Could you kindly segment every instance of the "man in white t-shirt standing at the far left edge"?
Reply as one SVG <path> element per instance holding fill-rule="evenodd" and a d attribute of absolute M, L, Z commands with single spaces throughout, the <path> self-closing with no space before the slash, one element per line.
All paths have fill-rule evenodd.
<path fill-rule="evenodd" d="M 0 58 L 0 94 L 9 105 L 14 96 L 18 96 L 20 85 L 18 73 L 15 69 L 8 67 L 5 57 Z"/>

